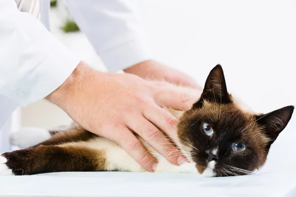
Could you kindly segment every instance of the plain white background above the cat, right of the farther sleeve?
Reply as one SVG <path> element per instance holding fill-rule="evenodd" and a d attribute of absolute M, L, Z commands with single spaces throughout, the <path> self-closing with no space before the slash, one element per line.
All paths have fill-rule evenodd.
<path fill-rule="evenodd" d="M 296 104 L 296 1 L 144 0 L 156 59 L 203 85 L 221 64 L 228 90 L 256 111 Z"/>

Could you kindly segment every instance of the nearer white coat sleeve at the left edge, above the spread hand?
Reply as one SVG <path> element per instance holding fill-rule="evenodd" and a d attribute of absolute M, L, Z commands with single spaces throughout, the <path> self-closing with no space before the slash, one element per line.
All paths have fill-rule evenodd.
<path fill-rule="evenodd" d="M 0 0 L 0 94 L 26 106 L 57 89 L 80 59 L 14 0 Z"/>

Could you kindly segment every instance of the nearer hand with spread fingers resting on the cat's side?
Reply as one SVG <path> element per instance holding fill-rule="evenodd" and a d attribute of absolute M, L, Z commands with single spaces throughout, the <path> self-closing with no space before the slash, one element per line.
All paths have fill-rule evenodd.
<path fill-rule="evenodd" d="M 178 139 L 177 118 L 161 106 L 188 109 L 198 97 L 175 90 L 167 82 L 146 81 L 127 73 L 99 72 L 81 62 L 46 99 L 84 129 L 118 143 L 152 172 L 157 161 L 135 134 L 172 164 L 183 163 L 184 156 L 161 132 Z"/>

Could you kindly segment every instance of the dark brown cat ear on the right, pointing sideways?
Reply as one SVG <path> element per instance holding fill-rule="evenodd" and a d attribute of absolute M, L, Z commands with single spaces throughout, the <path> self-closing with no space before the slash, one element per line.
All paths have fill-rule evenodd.
<path fill-rule="evenodd" d="M 269 146 L 276 140 L 289 123 L 294 106 L 286 106 L 270 113 L 256 116 L 257 123 L 263 126 L 263 132 L 270 138 Z"/>

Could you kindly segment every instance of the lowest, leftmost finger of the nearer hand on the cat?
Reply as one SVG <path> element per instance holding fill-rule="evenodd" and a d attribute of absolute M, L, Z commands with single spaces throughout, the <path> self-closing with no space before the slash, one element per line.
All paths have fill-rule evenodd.
<path fill-rule="evenodd" d="M 117 142 L 143 168 L 149 172 L 154 172 L 153 164 L 156 165 L 158 162 L 140 140 L 128 128 L 120 129 L 117 133 L 118 137 L 112 140 Z"/>

